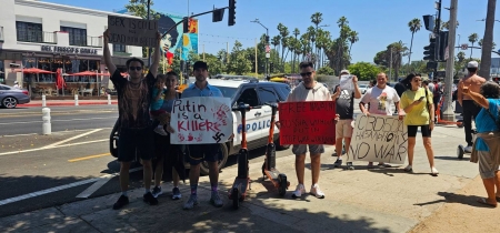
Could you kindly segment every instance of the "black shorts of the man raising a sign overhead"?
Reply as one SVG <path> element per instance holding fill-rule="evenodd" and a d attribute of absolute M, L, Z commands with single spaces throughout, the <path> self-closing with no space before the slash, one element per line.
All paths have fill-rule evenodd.
<path fill-rule="evenodd" d="M 150 126 L 143 129 L 120 129 L 118 138 L 118 161 L 131 162 L 136 152 L 142 160 L 154 156 L 154 132 Z"/>

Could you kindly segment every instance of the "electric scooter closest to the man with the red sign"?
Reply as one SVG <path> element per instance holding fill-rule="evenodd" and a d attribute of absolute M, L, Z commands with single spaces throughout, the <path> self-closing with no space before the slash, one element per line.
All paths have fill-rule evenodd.
<path fill-rule="evenodd" d="M 264 181 L 266 178 L 269 178 L 274 188 L 278 189 L 278 194 L 280 196 L 284 196 L 284 194 L 287 194 L 288 186 L 290 186 L 290 182 L 287 181 L 286 174 L 280 173 L 278 169 L 276 169 L 274 123 L 278 103 L 264 104 L 271 107 L 272 113 L 271 125 L 269 128 L 268 148 L 266 150 L 264 163 L 262 164 L 262 180 Z"/>

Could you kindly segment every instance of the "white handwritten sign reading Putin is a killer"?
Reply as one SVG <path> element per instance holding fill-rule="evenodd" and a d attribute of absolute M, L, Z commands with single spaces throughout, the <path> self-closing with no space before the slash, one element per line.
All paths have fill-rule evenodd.
<path fill-rule="evenodd" d="M 228 141 L 232 134 L 229 98 L 186 98 L 173 102 L 170 125 L 172 144 L 211 144 Z"/>

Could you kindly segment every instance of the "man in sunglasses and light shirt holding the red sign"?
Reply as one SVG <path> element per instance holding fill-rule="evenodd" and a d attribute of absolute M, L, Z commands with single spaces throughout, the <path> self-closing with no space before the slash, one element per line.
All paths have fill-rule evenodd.
<path fill-rule="evenodd" d="M 328 89 L 314 81 L 314 68 L 312 62 L 303 61 L 299 64 L 300 75 L 302 82 L 294 88 L 288 95 L 287 102 L 300 102 L 300 101 L 330 101 L 331 95 Z M 281 124 L 277 122 L 277 126 Z M 308 152 L 308 144 L 294 144 L 292 148 L 293 154 L 296 154 L 296 172 L 299 184 L 292 194 L 292 197 L 300 197 L 306 194 L 306 188 L 303 182 L 303 173 L 306 169 L 306 153 Z M 323 199 L 324 193 L 320 190 L 318 181 L 320 175 L 321 153 L 324 153 L 324 146 L 322 144 L 309 144 L 309 152 L 311 154 L 311 173 L 312 185 L 310 193 L 318 199 Z"/>

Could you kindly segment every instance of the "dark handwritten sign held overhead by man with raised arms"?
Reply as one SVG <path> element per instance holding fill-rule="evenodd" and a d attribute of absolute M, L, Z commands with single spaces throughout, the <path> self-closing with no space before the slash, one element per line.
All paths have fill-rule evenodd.
<path fill-rule="evenodd" d="M 158 44 L 158 20 L 108 16 L 109 42 L 136 47 Z"/>

